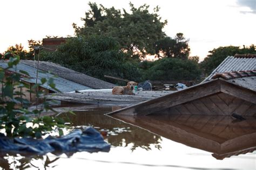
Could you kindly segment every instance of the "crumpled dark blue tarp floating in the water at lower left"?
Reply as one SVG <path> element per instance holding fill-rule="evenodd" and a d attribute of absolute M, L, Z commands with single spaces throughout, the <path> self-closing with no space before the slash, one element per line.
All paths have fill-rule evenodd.
<path fill-rule="evenodd" d="M 101 134 L 89 127 L 73 132 L 59 138 L 47 137 L 42 140 L 33 138 L 8 138 L 0 133 L 0 151 L 15 152 L 20 154 L 39 154 L 46 153 L 62 154 L 75 152 L 109 152 L 110 145 L 107 144 Z"/>

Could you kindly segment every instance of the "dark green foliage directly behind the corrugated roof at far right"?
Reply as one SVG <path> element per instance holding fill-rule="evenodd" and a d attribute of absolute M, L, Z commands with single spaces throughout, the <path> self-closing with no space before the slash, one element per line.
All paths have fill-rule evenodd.
<path fill-rule="evenodd" d="M 226 46 L 214 48 L 209 51 L 209 55 L 200 63 L 200 67 L 203 69 L 206 75 L 210 74 L 220 63 L 227 58 L 227 56 L 234 56 L 235 54 L 256 54 L 254 45 L 250 47 L 240 48 L 239 46 Z"/>

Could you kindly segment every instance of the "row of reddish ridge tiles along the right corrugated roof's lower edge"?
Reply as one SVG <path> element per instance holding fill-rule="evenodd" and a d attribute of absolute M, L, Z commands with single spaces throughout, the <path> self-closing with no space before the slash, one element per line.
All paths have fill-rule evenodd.
<path fill-rule="evenodd" d="M 256 70 L 242 70 L 242 71 L 232 71 L 232 72 L 225 72 L 225 73 L 215 73 L 212 76 L 212 79 L 223 78 L 225 80 L 229 79 L 237 79 L 240 77 L 250 77 L 256 76 Z"/>

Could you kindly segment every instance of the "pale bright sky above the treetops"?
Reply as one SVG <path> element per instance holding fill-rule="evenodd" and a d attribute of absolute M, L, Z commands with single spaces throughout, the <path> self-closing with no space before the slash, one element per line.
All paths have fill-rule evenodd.
<path fill-rule="evenodd" d="M 148 4 L 167 19 L 164 31 L 169 37 L 184 33 L 190 39 L 190 56 L 203 60 L 213 48 L 220 46 L 256 45 L 256 0 L 95 0 L 106 8 L 130 9 Z M 42 40 L 45 36 L 73 36 L 72 23 L 82 26 L 81 17 L 89 10 L 89 1 L 80 0 L 1 0 L 0 53 L 9 46 L 28 40 Z M 151 11 L 152 12 L 152 11 Z"/>

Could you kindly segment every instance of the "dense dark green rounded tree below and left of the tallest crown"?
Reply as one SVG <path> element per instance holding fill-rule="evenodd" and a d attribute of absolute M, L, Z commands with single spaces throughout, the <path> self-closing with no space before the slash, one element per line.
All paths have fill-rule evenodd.
<path fill-rule="evenodd" d="M 56 52 L 43 60 L 50 60 L 106 81 L 109 79 L 104 75 L 138 81 L 137 77 L 140 75 L 137 64 L 125 61 L 124 55 L 114 38 L 91 36 L 69 38 Z"/>

